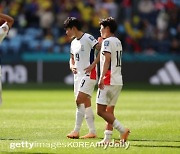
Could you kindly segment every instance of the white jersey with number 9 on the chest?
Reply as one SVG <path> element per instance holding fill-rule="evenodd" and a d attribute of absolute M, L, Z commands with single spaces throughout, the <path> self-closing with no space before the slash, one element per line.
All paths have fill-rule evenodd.
<path fill-rule="evenodd" d="M 84 75 L 87 68 L 95 59 L 94 46 L 98 41 L 90 34 L 84 33 L 80 39 L 75 38 L 71 42 L 71 54 L 74 55 L 75 67 L 78 75 Z M 96 79 L 97 73 L 94 68 L 90 73 L 91 79 Z"/>

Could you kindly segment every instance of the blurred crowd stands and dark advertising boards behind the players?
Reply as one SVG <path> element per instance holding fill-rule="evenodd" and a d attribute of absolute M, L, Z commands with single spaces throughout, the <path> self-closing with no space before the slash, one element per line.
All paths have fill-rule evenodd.
<path fill-rule="evenodd" d="M 0 46 L 3 83 L 72 84 L 68 16 L 96 38 L 99 19 L 114 17 L 123 44 L 125 82 L 180 84 L 179 0 L 1 0 L 15 23 Z"/>

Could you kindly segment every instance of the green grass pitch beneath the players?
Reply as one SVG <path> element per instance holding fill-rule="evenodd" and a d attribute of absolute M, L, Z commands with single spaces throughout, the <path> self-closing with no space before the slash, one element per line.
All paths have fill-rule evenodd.
<path fill-rule="evenodd" d="M 94 92 L 94 112 L 95 96 Z M 75 108 L 72 87 L 64 88 L 59 84 L 4 86 L 0 106 L 0 153 L 180 153 L 180 87 L 124 87 L 115 115 L 131 129 L 127 150 L 94 146 L 103 138 L 105 126 L 96 112 L 98 138 L 67 139 L 66 135 L 74 127 Z M 84 121 L 80 135 L 87 132 Z M 113 138 L 118 139 L 118 136 L 114 130 Z M 30 143 L 34 144 L 31 149 Z"/>

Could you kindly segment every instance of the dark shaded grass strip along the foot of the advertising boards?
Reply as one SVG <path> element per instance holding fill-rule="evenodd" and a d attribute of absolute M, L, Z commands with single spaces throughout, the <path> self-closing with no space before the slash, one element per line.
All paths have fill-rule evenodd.
<path fill-rule="evenodd" d="M 4 90 L 73 90 L 73 85 L 64 83 L 28 83 L 28 84 L 3 84 Z M 97 85 L 95 87 L 97 90 Z M 180 91 L 179 85 L 150 85 L 148 83 L 127 83 L 124 91 Z"/>

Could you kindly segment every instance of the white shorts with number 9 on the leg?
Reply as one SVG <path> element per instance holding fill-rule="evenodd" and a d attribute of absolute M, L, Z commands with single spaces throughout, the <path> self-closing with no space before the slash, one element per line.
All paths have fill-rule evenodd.
<path fill-rule="evenodd" d="M 92 95 L 94 87 L 96 85 L 96 80 L 90 79 L 90 76 L 74 76 L 74 94 L 77 97 L 79 91 L 89 96 Z"/>

